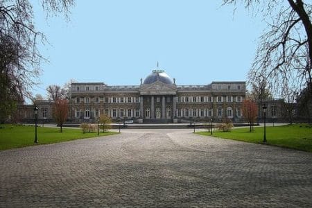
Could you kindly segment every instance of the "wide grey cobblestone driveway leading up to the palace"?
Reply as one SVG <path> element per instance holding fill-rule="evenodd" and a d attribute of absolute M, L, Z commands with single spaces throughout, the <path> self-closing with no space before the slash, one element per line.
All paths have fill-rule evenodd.
<path fill-rule="evenodd" d="M 0 207 L 312 207 L 312 154 L 123 130 L 0 152 Z"/>

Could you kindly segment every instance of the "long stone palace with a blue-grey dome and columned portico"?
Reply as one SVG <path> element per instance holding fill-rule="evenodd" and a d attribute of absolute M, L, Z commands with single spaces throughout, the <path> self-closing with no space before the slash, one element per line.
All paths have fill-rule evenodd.
<path fill-rule="evenodd" d="M 72 83 L 70 120 L 96 121 L 107 114 L 113 121 L 180 123 L 241 121 L 245 82 L 212 82 L 177 85 L 163 70 L 153 70 L 140 85 L 110 86 L 105 83 Z"/>

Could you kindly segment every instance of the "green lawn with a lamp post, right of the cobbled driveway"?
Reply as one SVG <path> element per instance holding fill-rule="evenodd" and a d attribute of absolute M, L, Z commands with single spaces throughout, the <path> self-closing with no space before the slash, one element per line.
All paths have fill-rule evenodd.
<path fill-rule="evenodd" d="M 197 132 L 197 134 L 210 136 L 210 132 Z M 214 132 L 213 136 L 263 144 L 263 127 L 254 128 L 254 132 L 249 132 L 249 128 L 236 128 L 231 132 Z M 312 125 L 270 126 L 266 128 L 266 139 L 268 145 L 312 152 Z"/>

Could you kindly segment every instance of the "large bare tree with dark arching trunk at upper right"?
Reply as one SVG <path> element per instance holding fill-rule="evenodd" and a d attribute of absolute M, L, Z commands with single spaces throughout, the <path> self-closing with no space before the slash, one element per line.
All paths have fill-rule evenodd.
<path fill-rule="evenodd" d="M 261 35 L 250 83 L 259 76 L 268 80 L 278 94 L 289 80 L 293 91 L 311 86 L 312 4 L 302 0 L 241 0 L 249 10 L 262 12 L 268 31 Z M 238 0 L 223 0 L 223 5 L 236 7 Z"/>

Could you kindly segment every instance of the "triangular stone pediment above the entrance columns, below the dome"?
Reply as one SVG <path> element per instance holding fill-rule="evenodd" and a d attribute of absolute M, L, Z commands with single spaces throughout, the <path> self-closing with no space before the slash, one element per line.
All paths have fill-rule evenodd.
<path fill-rule="evenodd" d="M 177 94 L 177 89 L 175 85 L 167 85 L 156 81 L 150 85 L 143 85 L 139 92 L 141 95 L 175 95 Z"/>

